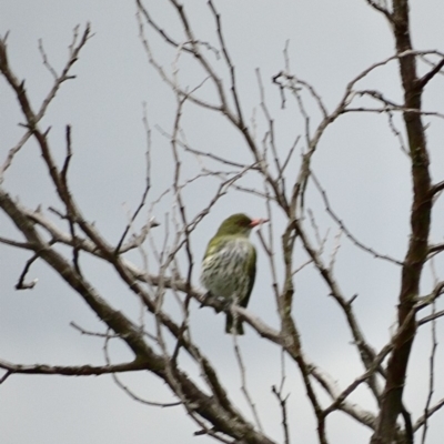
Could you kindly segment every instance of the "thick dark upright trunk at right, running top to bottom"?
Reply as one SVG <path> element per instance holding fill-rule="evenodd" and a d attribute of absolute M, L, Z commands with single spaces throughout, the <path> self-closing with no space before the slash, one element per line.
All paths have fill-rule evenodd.
<path fill-rule="evenodd" d="M 410 38 L 408 1 L 393 0 L 393 33 L 397 53 L 412 50 Z M 415 56 L 398 59 L 404 105 L 406 109 L 422 109 L 422 85 L 417 80 Z M 405 128 L 408 138 L 408 151 L 412 161 L 413 202 L 411 214 L 411 235 L 405 255 L 401 292 L 398 296 L 397 324 L 404 325 L 415 305 L 420 292 L 420 281 L 427 259 L 428 232 L 431 225 L 431 176 L 428 172 L 428 153 L 425 130 L 421 113 L 404 111 Z M 413 340 L 416 334 L 415 316 L 403 334 L 394 343 L 386 369 L 386 383 L 382 405 L 372 444 L 391 444 L 396 430 L 396 418 L 402 411 L 402 396 L 405 386 L 407 364 Z"/>

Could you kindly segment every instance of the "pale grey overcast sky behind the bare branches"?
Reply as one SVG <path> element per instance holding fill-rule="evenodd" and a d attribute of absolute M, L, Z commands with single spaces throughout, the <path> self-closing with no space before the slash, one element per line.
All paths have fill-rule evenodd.
<path fill-rule="evenodd" d="M 214 26 L 206 1 L 184 2 L 200 40 L 216 42 Z M 183 39 L 178 20 L 165 0 L 147 0 L 162 28 Z M 239 0 L 215 1 L 222 13 L 224 36 L 239 74 L 243 110 L 251 119 L 259 107 L 255 69 L 260 68 L 270 108 L 275 117 L 280 153 L 284 155 L 302 121 L 294 109 L 280 109 L 279 90 L 271 78 L 284 68 L 283 49 L 289 41 L 291 69 L 301 79 L 310 81 L 329 109 L 337 103 L 346 83 L 365 68 L 393 53 L 393 40 L 383 17 L 364 0 Z M 442 0 L 412 2 L 413 42 L 416 49 L 443 51 L 444 3 Z M 171 184 L 172 155 L 168 138 L 174 118 L 174 97 L 149 65 L 138 37 L 135 4 L 123 0 L 2 0 L 0 33 L 9 31 L 10 64 L 37 105 L 51 87 L 51 75 L 44 69 L 38 50 L 42 39 L 51 63 L 60 70 L 67 60 L 68 46 L 77 24 L 82 29 L 91 23 L 94 37 L 83 49 L 73 72 L 75 80 L 67 82 L 51 105 L 43 125 L 51 127 L 50 140 L 59 159 L 64 153 L 64 127 L 72 125 L 74 159 L 71 184 L 77 200 L 90 221 L 111 242 L 119 239 L 127 223 L 127 209 L 134 209 L 144 186 L 145 133 L 142 124 L 143 103 L 152 128 L 152 202 Z M 153 50 L 165 67 L 171 67 L 175 53 L 153 38 Z M 199 84 L 201 74 L 181 59 L 181 81 L 190 88 Z M 220 67 L 214 61 L 216 67 Z M 424 69 L 424 68 L 421 68 Z M 221 68 L 221 71 L 223 69 Z M 384 91 L 391 99 L 401 100 L 395 64 L 377 70 L 363 88 Z M 438 110 L 444 102 L 444 83 L 436 79 L 425 97 L 428 110 Z M 209 95 L 211 99 L 211 94 Z M 313 112 L 312 124 L 319 115 Z M 23 129 L 17 100 L 0 81 L 0 162 L 17 143 Z M 427 120 L 428 121 L 428 120 Z M 259 121 L 261 124 L 261 121 Z M 435 182 L 444 179 L 443 125 L 431 120 L 427 130 Z M 251 161 L 242 139 L 226 121 L 192 107 L 183 121 L 186 138 L 193 148 L 212 151 L 240 162 Z M 161 130 L 160 130 L 161 129 Z M 259 132 L 264 128 L 260 127 Z M 303 148 L 303 147 L 301 147 Z M 183 176 L 195 174 L 196 160 L 184 157 Z M 335 211 L 353 233 L 376 251 L 402 260 L 408 235 L 411 183 L 408 161 L 401 151 L 383 115 L 360 114 L 339 120 L 329 130 L 313 161 L 321 183 L 329 190 Z M 294 180 L 289 173 L 289 181 Z M 254 186 L 258 183 L 252 179 Z M 58 201 L 51 191 L 36 145 L 29 143 L 14 159 L 3 183 L 23 204 L 43 208 Z M 209 188 L 191 186 L 188 211 L 199 213 L 211 199 Z M 319 195 L 313 199 L 323 231 L 334 224 L 322 212 Z M 162 222 L 171 201 L 157 206 L 157 219 Z M 251 216 L 264 216 L 265 205 L 251 195 L 232 192 L 222 199 L 193 235 L 196 261 L 203 254 L 208 240 L 218 224 L 231 213 L 244 211 Z M 443 205 L 435 216 L 442 220 Z M 441 215 L 440 215 L 441 214 Z M 143 223 L 143 221 L 142 221 Z M 162 239 L 164 225 L 159 228 Z M 276 233 L 282 229 L 276 214 Z M 0 235 L 17 235 L 3 215 Z M 440 224 L 432 230 L 432 240 L 442 241 Z M 258 238 L 253 234 L 258 244 Z M 278 238 L 279 241 L 279 238 Z M 23 252 L 0 244 L 0 359 L 32 364 L 100 364 L 103 363 L 100 340 L 82 336 L 70 327 L 75 322 L 85 329 L 98 329 L 95 316 L 88 311 L 44 264 L 36 264 L 30 278 L 38 278 L 37 287 L 28 292 L 14 291 L 14 284 L 29 258 Z M 303 262 L 301 258 L 296 262 Z M 87 273 L 114 306 L 131 315 L 138 304 L 130 300 L 114 274 L 108 274 L 99 262 L 85 262 Z M 442 262 L 437 262 L 440 269 Z M 393 264 L 377 262 L 343 241 L 337 260 L 337 279 L 345 294 L 359 294 L 356 312 L 366 336 L 379 349 L 390 339 L 390 326 L 395 320 L 400 271 Z M 198 285 L 195 272 L 193 282 Z M 251 310 L 278 327 L 278 316 L 270 287 L 270 274 L 264 254 L 259 249 L 259 275 L 252 295 Z M 425 271 L 423 292 L 431 287 L 431 273 Z M 342 314 L 327 295 L 316 273 L 307 268 L 296 281 L 295 314 L 303 332 L 305 350 L 342 386 L 362 371 Z M 334 314 L 332 314 L 334 313 Z M 222 316 L 210 310 L 193 311 L 195 337 L 202 349 L 221 369 L 226 386 L 239 407 L 251 416 L 239 390 L 240 376 L 232 351 L 232 342 L 223 332 Z M 282 442 L 280 411 L 271 395 L 271 385 L 280 382 L 280 351 L 264 343 L 251 330 L 242 339 L 249 384 L 263 421 L 265 432 Z M 422 334 L 415 343 L 412 362 L 426 362 L 430 337 Z M 441 355 L 438 355 L 442 357 Z M 129 357 L 124 349 L 113 350 L 115 362 Z M 441 366 L 441 372 L 443 366 Z M 406 404 L 417 416 L 426 397 L 427 369 L 411 365 Z M 151 375 L 125 376 L 125 381 L 151 401 L 169 402 L 173 397 L 164 384 Z M 291 392 L 291 434 L 293 442 L 314 443 L 314 421 L 305 400 L 300 374 L 287 363 L 287 391 Z M 436 389 L 436 400 L 444 396 L 444 386 Z M 372 408 L 364 391 L 355 400 Z M 440 414 L 438 414 L 440 415 Z M 441 416 L 442 417 L 442 414 Z M 434 420 L 438 421 L 438 416 Z M 332 443 L 366 442 L 367 431 L 340 414 L 330 421 Z M 438 427 L 437 427 L 438 428 Z M 209 437 L 193 437 L 196 426 L 182 407 L 155 408 L 141 405 L 113 384 L 111 377 L 69 379 L 59 376 L 11 376 L 0 386 L 0 436 L 8 444 L 74 444 L 129 442 L 142 443 L 209 443 Z M 351 436 L 353 440 L 351 441 Z M 431 432 L 431 444 L 442 442 L 436 427 Z"/>

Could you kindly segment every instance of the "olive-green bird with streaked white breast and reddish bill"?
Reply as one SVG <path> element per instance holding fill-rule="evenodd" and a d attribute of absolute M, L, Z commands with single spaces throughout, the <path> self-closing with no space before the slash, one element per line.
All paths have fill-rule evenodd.
<path fill-rule="evenodd" d="M 246 307 L 256 275 L 256 250 L 249 236 L 262 222 L 236 213 L 221 223 L 202 260 L 201 283 L 212 296 Z M 232 313 L 226 313 L 225 333 L 244 333 Z"/>

